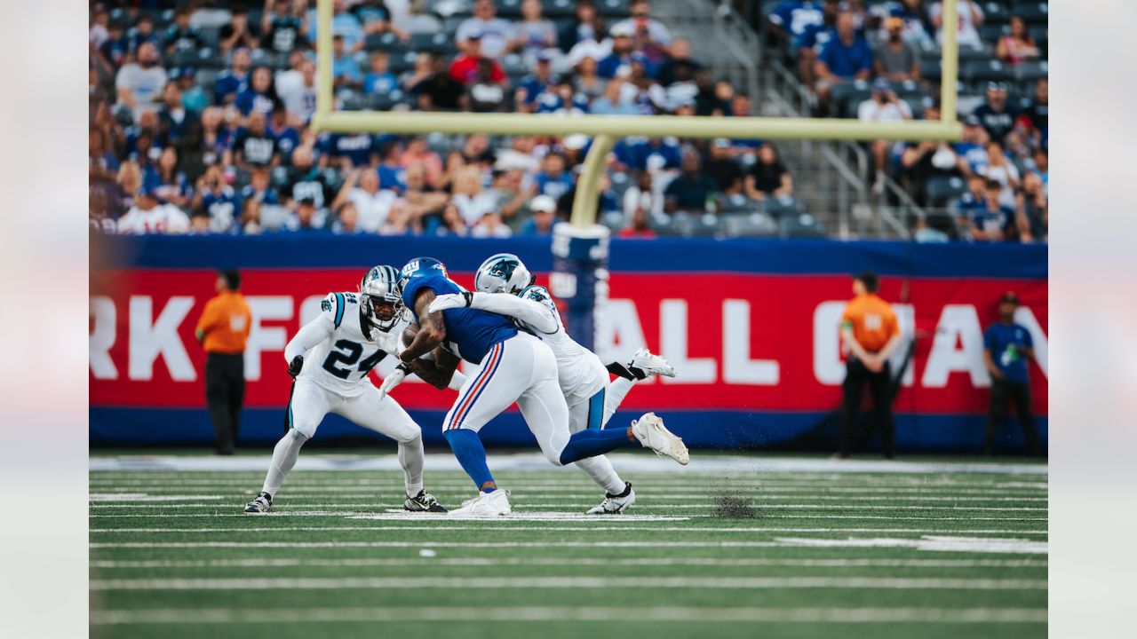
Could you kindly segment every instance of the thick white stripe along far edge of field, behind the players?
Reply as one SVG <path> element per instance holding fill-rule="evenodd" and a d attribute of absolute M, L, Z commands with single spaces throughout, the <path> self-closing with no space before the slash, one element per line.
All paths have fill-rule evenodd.
<path fill-rule="evenodd" d="M 772 458 L 764 456 L 705 456 L 695 457 L 688 466 L 677 466 L 670 459 L 648 455 L 615 454 L 609 456 L 613 464 L 626 473 L 986 473 L 998 475 L 1046 475 L 1046 464 L 996 464 L 996 463 L 947 463 L 947 462 L 885 462 L 879 459 L 800 459 Z M 267 467 L 268 456 L 256 457 L 180 457 L 159 456 L 124 456 L 92 457 L 88 467 L 91 471 L 260 471 Z M 551 470 L 545 456 L 539 453 L 517 455 L 497 455 L 493 458 L 495 471 L 508 473 L 513 471 Z M 431 454 L 425 459 L 426 472 L 460 471 L 458 460 L 450 454 Z M 297 462 L 298 471 L 398 471 L 399 462 L 393 454 L 379 456 L 301 456 Z"/>

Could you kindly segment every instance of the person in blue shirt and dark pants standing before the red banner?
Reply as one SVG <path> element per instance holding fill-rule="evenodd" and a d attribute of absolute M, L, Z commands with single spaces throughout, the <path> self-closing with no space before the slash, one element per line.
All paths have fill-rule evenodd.
<path fill-rule="evenodd" d="M 1031 455 L 1041 454 L 1035 417 L 1030 409 L 1030 372 L 1028 363 L 1035 359 L 1035 342 L 1030 331 L 1014 321 L 1019 296 L 1012 291 L 998 300 L 998 322 L 984 333 L 984 364 L 991 375 L 991 401 L 987 421 L 984 455 L 995 451 L 995 440 L 1006 420 L 1007 401 L 1014 404 L 1019 425 L 1027 438 Z"/>

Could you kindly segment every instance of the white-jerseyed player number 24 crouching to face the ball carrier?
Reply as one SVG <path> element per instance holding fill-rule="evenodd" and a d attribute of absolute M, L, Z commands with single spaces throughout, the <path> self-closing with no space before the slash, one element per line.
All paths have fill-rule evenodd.
<path fill-rule="evenodd" d="M 358 294 L 329 293 L 321 301 L 319 315 L 284 347 L 288 372 L 296 380 L 285 415 L 288 433 L 273 449 L 264 487 L 246 505 L 246 513 L 269 511 L 273 496 L 296 464 L 300 447 L 316 434 L 327 413 L 342 415 L 398 442 L 399 465 L 406 475 L 407 511 L 446 512 L 423 489 L 423 440 L 418 424 L 395 398 L 383 397 L 367 379 L 388 355 L 379 345 L 387 343 L 387 333 L 401 331 L 406 323 L 397 292 L 398 279 L 398 271 L 391 266 L 376 266 L 364 275 Z"/>

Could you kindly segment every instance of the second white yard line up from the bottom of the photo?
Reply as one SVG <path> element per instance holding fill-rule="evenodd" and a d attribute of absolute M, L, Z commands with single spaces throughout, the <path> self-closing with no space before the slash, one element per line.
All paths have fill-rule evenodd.
<path fill-rule="evenodd" d="M 921 579 L 839 576 L 739 578 L 609 578 L 609 576 L 346 576 L 236 579 L 98 579 L 90 589 L 102 590 L 340 590 L 340 589 L 460 588 L 863 588 L 881 590 L 1046 590 L 1043 579 Z"/>

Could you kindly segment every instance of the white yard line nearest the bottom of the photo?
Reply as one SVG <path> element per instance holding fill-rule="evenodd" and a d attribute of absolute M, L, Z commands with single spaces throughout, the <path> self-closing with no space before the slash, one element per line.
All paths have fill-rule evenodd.
<path fill-rule="evenodd" d="M 407 621 L 406 607 L 91 611 L 92 625 L 142 623 L 360 623 Z M 458 621 L 1046 623 L 1045 608 L 416 607 L 420 619 Z"/>

